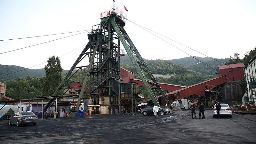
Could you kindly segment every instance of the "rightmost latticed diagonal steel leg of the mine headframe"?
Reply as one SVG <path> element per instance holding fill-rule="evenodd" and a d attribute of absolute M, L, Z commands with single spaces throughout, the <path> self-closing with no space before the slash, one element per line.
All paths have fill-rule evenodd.
<path fill-rule="evenodd" d="M 119 28 L 121 29 L 122 34 L 125 36 L 125 39 L 127 41 L 128 44 L 130 44 L 130 50 L 133 51 L 133 53 L 135 54 L 135 56 L 140 60 L 140 63 L 142 64 L 141 66 L 143 67 L 143 69 L 145 70 L 145 72 L 148 74 L 148 76 L 151 78 L 151 80 L 153 81 L 153 83 L 155 83 L 156 89 L 158 90 L 159 94 L 162 95 L 162 97 L 164 98 L 164 100 L 170 105 L 170 101 L 166 98 L 163 90 L 161 89 L 161 87 L 159 86 L 159 84 L 157 83 L 155 77 L 153 76 L 152 72 L 149 70 L 147 64 L 145 63 L 145 61 L 143 60 L 143 58 L 141 57 L 140 53 L 138 52 L 137 48 L 135 47 L 135 45 L 132 43 L 131 38 L 128 36 L 128 34 L 126 33 L 126 31 L 124 30 L 124 28 L 121 28 L 119 26 Z M 145 84 L 144 84 L 145 85 Z"/>

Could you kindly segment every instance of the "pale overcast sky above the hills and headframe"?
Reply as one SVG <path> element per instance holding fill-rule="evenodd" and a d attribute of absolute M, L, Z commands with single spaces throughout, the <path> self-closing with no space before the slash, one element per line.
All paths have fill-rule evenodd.
<path fill-rule="evenodd" d="M 229 58 L 237 52 L 242 58 L 246 51 L 256 47 L 255 0 L 115 1 L 125 5 L 128 20 L 210 57 Z M 112 8 L 111 2 L 0 0 L 0 40 L 92 29 L 92 25 L 100 23 L 100 12 Z M 181 52 L 128 20 L 124 28 L 145 59 L 171 60 L 188 54 L 206 57 L 164 38 L 188 54 Z M 78 33 L 0 41 L 0 53 Z M 0 54 L 0 64 L 38 69 L 44 68 L 44 62 L 55 55 L 60 57 L 63 69 L 70 69 L 87 43 L 86 32 Z"/>

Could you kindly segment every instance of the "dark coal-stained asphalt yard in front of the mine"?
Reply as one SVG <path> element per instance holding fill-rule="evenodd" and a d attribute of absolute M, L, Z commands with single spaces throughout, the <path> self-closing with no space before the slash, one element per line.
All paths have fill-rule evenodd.
<path fill-rule="evenodd" d="M 199 111 L 196 111 L 199 117 Z M 182 118 L 183 117 L 183 118 Z M 16 127 L 0 123 L 0 143 L 135 144 L 135 143 L 256 143 L 256 115 L 192 119 L 191 111 L 165 116 L 92 115 L 38 120 Z"/>

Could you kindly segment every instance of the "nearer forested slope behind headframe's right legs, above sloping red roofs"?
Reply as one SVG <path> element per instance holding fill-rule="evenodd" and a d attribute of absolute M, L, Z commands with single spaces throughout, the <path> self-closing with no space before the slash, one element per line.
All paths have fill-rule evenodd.
<path fill-rule="evenodd" d="M 215 76 L 206 75 L 196 71 L 191 71 L 191 70 L 188 70 L 187 68 L 181 67 L 180 65 L 172 63 L 168 60 L 160 60 L 160 59 L 157 59 L 157 60 L 144 59 L 144 60 L 147 63 L 148 68 L 151 70 L 153 74 L 163 74 L 163 75 L 175 74 L 170 78 L 157 77 L 156 80 L 162 83 L 179 84 L 179 85 L 188 86 L 188 85 L 192 85 L 192 84 L 196 84 L 196 83 L 208 80 L 216 76 L 216 75 Z M 124 67 L 130 70 L 135 74 L 136 78 L 139 78 L 128 55 L 121 57 L 121 67 Z M 148 77 L 146 78 L 149 80 Z"/>

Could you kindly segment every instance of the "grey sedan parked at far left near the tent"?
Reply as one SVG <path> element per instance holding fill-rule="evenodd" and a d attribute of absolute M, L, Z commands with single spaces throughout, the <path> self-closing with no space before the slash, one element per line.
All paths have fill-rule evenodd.
<path fill-rule="evenodd" d="M 31 111 L 19 111 L 9 118 L 9 125 L 33 124 L 37 123 L 37 116 Z"/>

